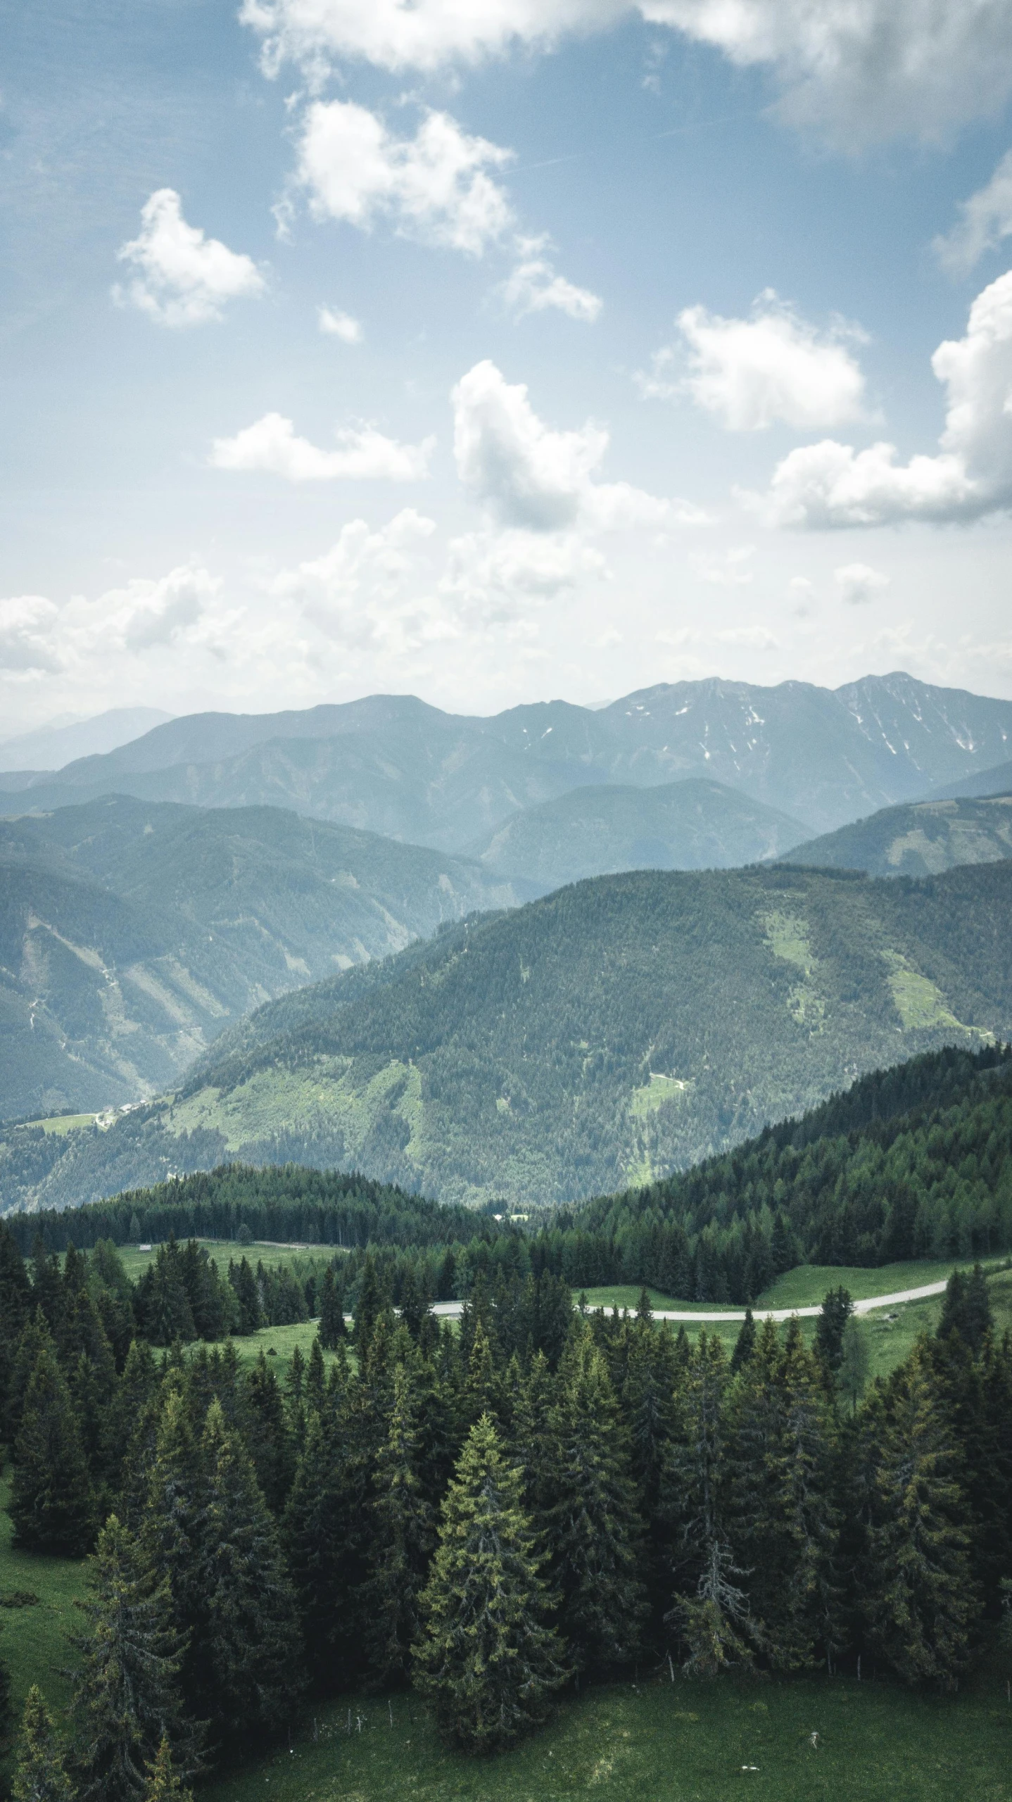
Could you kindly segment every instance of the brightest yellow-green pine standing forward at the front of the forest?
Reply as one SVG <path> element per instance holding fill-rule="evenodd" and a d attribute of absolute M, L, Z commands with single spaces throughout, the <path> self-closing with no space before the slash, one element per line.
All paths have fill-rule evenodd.
<path fill-rule="evenodd" d="M 439 1546 L 421 1597 L 425 1634 L 416 1683 L 439 1732 L 470 1752 L 495 1752 L 544 1719 L 567 1678 L 547 1625 L 520 1476 L 492 1420 L 470 1431 L 443 1503 Z"/>

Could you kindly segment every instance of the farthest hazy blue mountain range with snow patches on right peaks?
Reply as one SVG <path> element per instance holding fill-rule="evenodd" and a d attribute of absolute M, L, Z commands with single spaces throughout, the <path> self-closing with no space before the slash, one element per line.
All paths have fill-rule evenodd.
<path fill-rule="evenodd" d="M 490 719 L 412 696 L 288 714 L 194 714 L 108 757 L 68 764 L 11 809 L 131 793 L 200 805 L 285 805 L 461 851 L 519 807 L 580 784 L 650 787 L 702 775 L 832 831 L 1007 759 L 1012 701 L 868 676 L 843 688 L 661 683 L 591 710 L 565 701 Z M 0 778 L 2 780 L 2 778 Z"/>

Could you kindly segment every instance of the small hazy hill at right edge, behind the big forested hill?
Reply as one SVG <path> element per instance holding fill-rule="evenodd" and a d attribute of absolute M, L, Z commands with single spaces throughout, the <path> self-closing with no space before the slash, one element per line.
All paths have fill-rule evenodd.
<path fill-rule="evenodd" d="M 884 807 L 870 820 L 796 845 L 791 863 L 870 876 L 938 876 L 958 863 L 1012 858 L 1012 795 L 996 800 L 924 800 Z"/>

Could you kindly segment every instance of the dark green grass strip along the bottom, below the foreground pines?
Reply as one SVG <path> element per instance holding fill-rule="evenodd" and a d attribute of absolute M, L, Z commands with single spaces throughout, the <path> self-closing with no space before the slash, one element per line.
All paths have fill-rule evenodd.
<path fill-rule="evenodd" d="M 567 1697 L 517 1750 L 439 1744 L 403 1692 L 346 1697 L 207 1802 L 1010 1802 L 1012 1706 L 989 1663 L 942 1699 L 852 1678 L 670 1681 Z M 351 1723 L 351 1732 L 348 1730 Z"/>

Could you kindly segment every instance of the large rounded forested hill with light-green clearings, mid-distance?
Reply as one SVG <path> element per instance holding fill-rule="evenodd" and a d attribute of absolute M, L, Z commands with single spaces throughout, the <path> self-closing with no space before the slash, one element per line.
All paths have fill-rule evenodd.
<path fill-rule="evenodd" d="M 227 1155 L 510 1207 L 650 1182 L 863 1070 L 1012 1036 L 1010 924 L 1012 863 L 580 883 L 270 1004 L 175 1101 L 59 1155 L 9 1133 L 4 1197 L 65 1206 Z"/>

